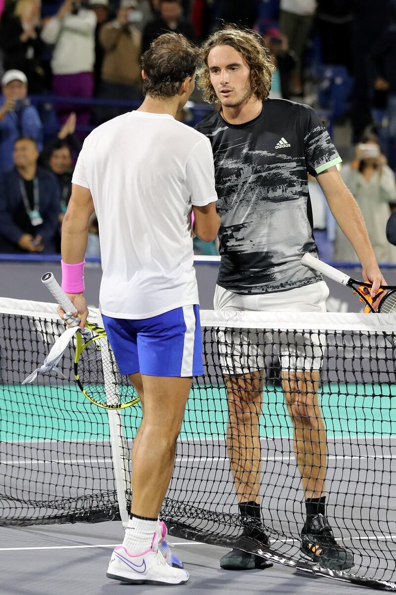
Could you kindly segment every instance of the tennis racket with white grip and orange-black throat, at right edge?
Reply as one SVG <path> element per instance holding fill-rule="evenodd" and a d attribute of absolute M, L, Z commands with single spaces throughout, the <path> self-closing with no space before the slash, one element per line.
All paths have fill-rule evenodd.
<path fill-rule="evenodd" d="M 304 254 L 303 258 L 301 258 L 301 262 L 305 267 L 312 268 L 314 271 L 319 271 L 319 273 L 323 273 L 329 279 L 336 281 L 337 283 L 341 283 L 341 285 L 345 285 L 350 287 L 354 293 L 359 296 L 361 302 L 366 304 L 364 308 L 364 313 L 367 314 L 369 312 L 381 312 L 382 314 L 390 314 L 391 312 L 396 312 L 396 287 L 391 285 L 381 285 L 380 289 L 377 292 L 377 296 L 381 293 L 385 293 L 382 297 L 381 302 L 379 302 L 378 309 L 373 308 L 373 298 L 370 296 L 370 289 L 372 287 L 372 283 L 365 283 L 364 281 L 357 281 L 349 277 L 346 273 L 342 273 L 337 268 L 330 267 L 329 264 L 326 262 L 322 262 L 319 258 L 315 258 L 310 253 Z"/>

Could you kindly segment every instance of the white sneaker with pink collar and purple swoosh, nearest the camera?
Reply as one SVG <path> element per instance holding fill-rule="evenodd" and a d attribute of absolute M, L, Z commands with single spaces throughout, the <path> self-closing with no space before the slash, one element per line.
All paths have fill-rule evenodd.
<path fill-rule="evenodd" d="M 157 534 L 154 535 L 152 546 L 156 540 Z M 189 579 L 186 570 L 170 566 L 160 550 L 153 547 L 139 556 L 131 555 L 124 546 L 115 547 L 106 576 L 121 583 L 138 585 L 180 585 Z"/>

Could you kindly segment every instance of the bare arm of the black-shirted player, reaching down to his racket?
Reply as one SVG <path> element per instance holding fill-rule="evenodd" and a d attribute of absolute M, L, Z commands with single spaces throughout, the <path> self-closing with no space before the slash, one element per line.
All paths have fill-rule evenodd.
<path fill-rule="evenodd" d="M 360 208 L 335 166 L 318 174 L 317 181 L 336 222 L 353 245 L 363 268 L 364 279 L 373 284 L 371 296 L 374 297 L 379 286 L 385 284 L 385 279 L 379 270 Z"/>

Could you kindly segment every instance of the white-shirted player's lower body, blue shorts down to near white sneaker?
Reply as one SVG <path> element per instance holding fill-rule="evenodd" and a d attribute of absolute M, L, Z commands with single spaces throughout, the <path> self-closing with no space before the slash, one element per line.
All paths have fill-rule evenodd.
<path fill-rule="evenodd" d="M 133 333 L 127 332 L 131 326 L 135 341 L 130 340 L 135 338 Z M 132 456 L 131 519 L 122 546 L 113 552 L 107 576 L 129 583 L 185 583 L 188 573 L 167 564 L 158 547 L 164 538 L 158 513 L 172 475 L 192 375 L 202 374 L 199 313 L 193 306 L 180 308 L 144 321 L 123 321 L 119 329 L 107 331 L 121 374 L 138 362 L 141 376 L 135 372 L 130 380 L 144 408 Z"/>

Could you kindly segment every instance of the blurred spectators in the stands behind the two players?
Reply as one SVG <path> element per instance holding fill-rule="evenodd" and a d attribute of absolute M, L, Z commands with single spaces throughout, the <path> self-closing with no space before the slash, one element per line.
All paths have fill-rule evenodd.
<path fill-rule="evenodd" d="M 350 123 L 342 177 L 379 261 L 396 262 L 385 234 L 396 205 L 396 0 L 0 0 L 0 252 L 59 251 L 82 140 L 131 109 L 114 100 L 141 100 L 142 52 L 161 33 L 201 43 L 223 23 L 263 35 L 276 65 L 270 97 Z M 180 119 L 197 123 L 194 109 Z M 309 183 L 327 259 L 356 261 Z M 198 253 L 217 252 L 196 241 Z M 99 253 L 94 219 L 88 253 Z"/>

